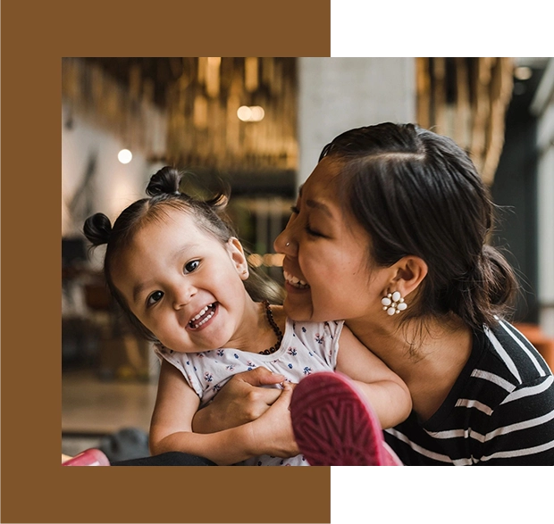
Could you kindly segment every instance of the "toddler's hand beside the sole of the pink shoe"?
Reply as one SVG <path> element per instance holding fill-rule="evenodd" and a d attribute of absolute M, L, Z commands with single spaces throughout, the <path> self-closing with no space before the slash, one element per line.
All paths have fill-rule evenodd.
<path fill-rule="evenodd" d="M 290 420 L 290 397 L 296 385 L 283 383 L 279 398 L 264 414 L 252 423 L 252 441 L 255 454 L 269 454 L 287 458 L 298 455 L 298 445 L 294 439 Z"/>

